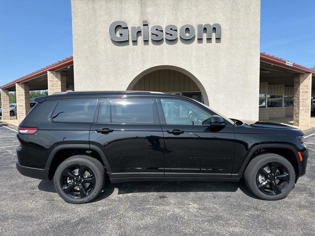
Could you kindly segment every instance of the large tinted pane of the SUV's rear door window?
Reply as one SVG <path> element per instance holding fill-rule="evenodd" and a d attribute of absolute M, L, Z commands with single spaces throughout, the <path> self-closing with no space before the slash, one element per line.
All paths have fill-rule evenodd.
<path fill-rule="evenodd" d="M 112 123 L 153 124 L 151 98 L 113 98 L 111 101 Z"/>

